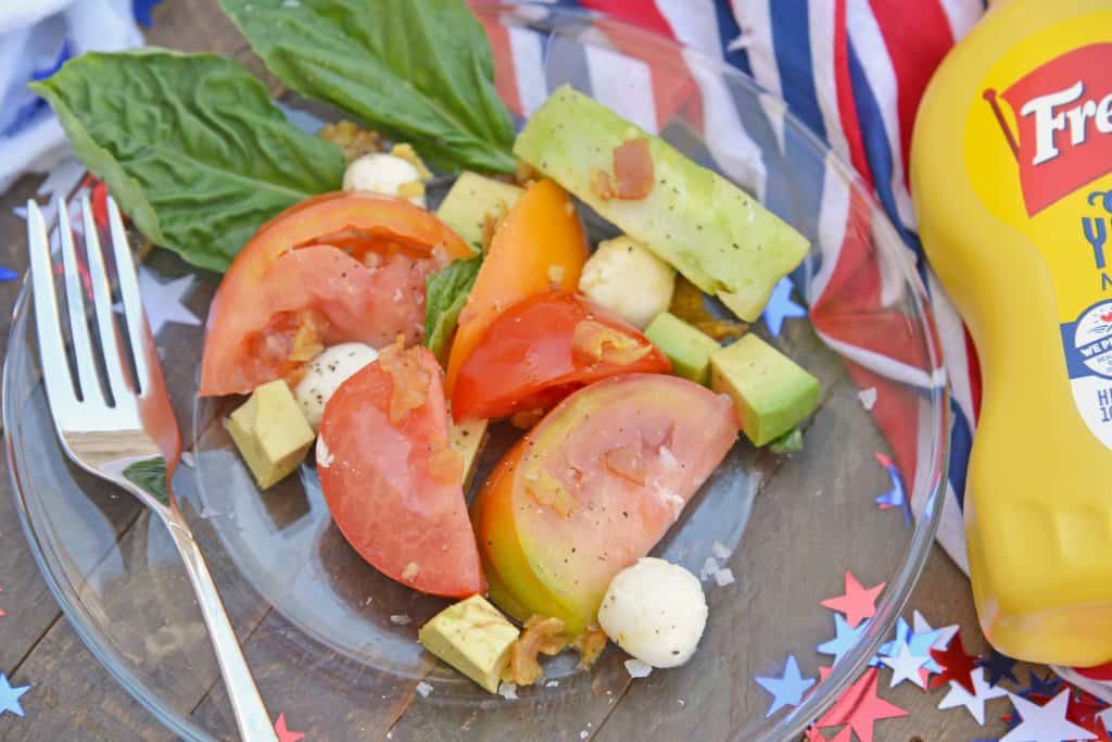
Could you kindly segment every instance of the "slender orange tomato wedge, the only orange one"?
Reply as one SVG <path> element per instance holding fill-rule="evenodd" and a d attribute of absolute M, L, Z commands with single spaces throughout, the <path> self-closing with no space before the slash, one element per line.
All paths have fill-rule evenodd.
<path fill-rule="evenodd" d="M 445 386 L 451 396 L 460 366 L 495 317 L 534 294 L 574 291 L 587 260 L 587 238 L 572 199 L 552 180 L 522 195 L 495 230 L 448 355 Z"/>

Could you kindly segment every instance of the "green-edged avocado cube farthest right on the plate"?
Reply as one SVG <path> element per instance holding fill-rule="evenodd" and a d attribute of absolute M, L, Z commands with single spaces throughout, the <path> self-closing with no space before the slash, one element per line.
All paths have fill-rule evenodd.
<path fill-rule="evenodd" d="M 763 446 L 818 405 L 818 379 L 752 333 L 711 355 L 711 388 L 728 394 L 742 431 Z"/>

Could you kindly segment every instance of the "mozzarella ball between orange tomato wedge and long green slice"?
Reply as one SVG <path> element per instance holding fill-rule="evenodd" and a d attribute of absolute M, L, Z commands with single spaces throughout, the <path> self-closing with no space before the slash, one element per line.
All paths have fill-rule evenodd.
<path fill-rule="evenodd" d="M 579 275 L 579 293 L 637 329 L 672 304 L 676 269 L 629 237 L 598 245 Z"/>

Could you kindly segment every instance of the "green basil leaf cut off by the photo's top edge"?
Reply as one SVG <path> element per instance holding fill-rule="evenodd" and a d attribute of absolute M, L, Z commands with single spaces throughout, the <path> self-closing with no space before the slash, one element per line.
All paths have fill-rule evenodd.
<path fill-rule="evenodd" d="M 437 165 L 512 171 L 514 125 L 481 24 L 460 0 L 219 0 L 286 85 Z"/>

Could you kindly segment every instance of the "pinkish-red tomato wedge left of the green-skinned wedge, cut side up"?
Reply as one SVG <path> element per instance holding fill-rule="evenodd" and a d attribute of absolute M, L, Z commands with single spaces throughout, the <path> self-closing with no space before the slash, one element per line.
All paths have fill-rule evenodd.
<path fill-rule="evenodd" d="M 485 590 L 440 367 L 428 349 L 385 348 L 336 390 L 319 435 L 328 509 L 363 558 L 423 593 Z"/>

